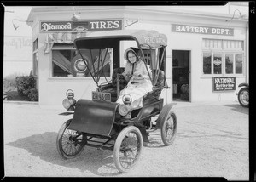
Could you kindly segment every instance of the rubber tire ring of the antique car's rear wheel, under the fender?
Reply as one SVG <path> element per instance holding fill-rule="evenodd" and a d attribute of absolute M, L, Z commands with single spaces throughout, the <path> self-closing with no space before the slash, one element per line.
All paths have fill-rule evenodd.
<path fill-rule="evenodd" d="M 167 120 L 170 117 L 173 117 L 173 133 L 172 133 L 171 140 L 168 141 L 166 139 L 166 122 L 167 122 Z M 173 143 L 173 141 L 174 141 L 174 139 L 176 137 L 176 134 L 177 134 L 177 117 L 176 117 L 176 114 L 173 111 L 170 110 L 170 111 L 166 112 L 166 116 L 165 117 L 161 117 L 160 131 L 161 131 L 161 138 L 162 138 L 163 143 L 166 146 L 172 145 L 172 143 Z"/>

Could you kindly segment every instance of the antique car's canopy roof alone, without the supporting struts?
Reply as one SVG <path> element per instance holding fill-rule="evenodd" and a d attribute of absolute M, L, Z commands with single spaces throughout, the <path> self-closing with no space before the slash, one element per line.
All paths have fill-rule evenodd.
<path fill-rule="evenodd" d="M 167 46 L 167 37 L 157 31 L 145 30 L 119 30 L 97 31 L 86 37 L 75 39 L 77 48 L 108 48 L 112 42 L 123 40 L 135 40 L 138 48 L 161 48 Z"/>

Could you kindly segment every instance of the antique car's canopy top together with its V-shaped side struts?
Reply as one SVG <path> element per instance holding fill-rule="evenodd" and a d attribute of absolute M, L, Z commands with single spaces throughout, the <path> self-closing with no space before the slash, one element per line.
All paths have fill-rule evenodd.
<path fill-rule="evenodd" d="M 94 81 L 98 85 L 100 75 L 102 73 L 102 67 L 104 63 L 106 63 L 106 55 L 108 53 L 108 48 L 112 46 L 114 48 L 119 48 L 120 41 L 136 41 L 137 47 L 140 49 L 143 62 L 145 63 L 145 58 L 143 55 L 142 48 L 158 48 L 162 49 L 160 59 L 160 67 L 162 65 L 163 56 L 167 46 L 167 37 L 165 34 L 161 34 L 157 31 L 146 31 L 146 30 L 119 30 L 119 31 L 96 31 L 90 33 L 86 37 L 79 37 L 74 40 L 74 46 L 79 50 L 79 54 L 84 59 L 84 56 L 81 54 L 80 50 L 82 49 L 99 49 L 98 58 L 100 61 L 97 61 L 97 64 L 92 64 L 92 66 L 88 65 L 86 61 L 85 65 L 89 68 L 90 75 L 93 77 Z M 107 49 L 105 54 L 102 53 L 102 49 Z M 90 53 L 91 54 L 91 53 Z M 89 56 L 90 57 L 90 56 Z M 92 59 L 90 60 L 92 61 Z M 89 61 L 89 62 L 90 62 Z M 101 62 L 101 63 L 100 63 Z M 146 63 L 145 63 L 146 64 Z M 97 65 L 97 66 L 96 66 Z M 102 65 L 102 66 L 101 66 Z M 146 66 L 148 71 L 148 66 Z M 100 71 L 101 70 L 101 71 Z M 156 81 L 159 76 L 159 72 L 155 73 L 153 77 L 150 76 L 148 71 L 148 76 L 153 86 L 156 84 Z M 106 79 L 106 77 L 105 77 Z M 107 80 L 107 79 L 106 79 Z M 108 81 L 107 81 L 108 82 Z"/>

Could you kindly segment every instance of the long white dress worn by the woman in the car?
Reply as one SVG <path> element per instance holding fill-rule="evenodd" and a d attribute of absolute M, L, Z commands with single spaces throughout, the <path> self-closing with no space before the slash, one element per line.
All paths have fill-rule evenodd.
<path fill-rule="evenodd" d="M 139 60 L 138 62 L 134 63 L 133 68 L 133 75 L 142 75 L 143 77 L 146 77 L 144 79 L 143 83 L 131 83 L 132 79 L 128 82 L 127 86 L 121 90 L 119 94 L 119 98 L 116 101 L 119 104 L 123 104 L 122 98 L 125 94 L 131 95 L 131 106 L 133 108 L 142 107 L 143 106 L 143 96 L 147 94 L 148 92 L 152 91 L 152 83 L 148 77 L 148 71 L 149 74 L 151 74 L 151 70 L 148 67 L 148 71 L 146 69 L 146 65 L 142 60 Z M 125 71 L 124 74 L 131 74 L 132 71 L 132 65 L 130 63 L 127 63 L 125 65 Z"/>

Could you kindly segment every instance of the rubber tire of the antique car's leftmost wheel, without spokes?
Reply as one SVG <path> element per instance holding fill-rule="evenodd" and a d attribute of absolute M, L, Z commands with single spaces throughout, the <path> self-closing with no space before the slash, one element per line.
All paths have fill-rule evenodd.
<path fill-rule="evenodd" d="M 57 145 L 57 150 L 60 154 L 60 156 L 64 159 L 72 159 L 76 156 L 79 156 L 81 154 L 81 152 L 84 150 L 84 146 L 85 145 L 81 145 L 80 148 L 79 148 L 79 151 L 73 155 L 73 156 L 68 156 L 64 151 L 63 151 L 63 148 L 62 148 L 62 137 L 63 137 L 63 134 L 65 132 L 65 130 L 67 129 L 67 127 L 70 125 L 70 122 L 72 122 L 72 119 L 69 119 L 67 120 L 67 122 L 64 122 L 59 130 L 59 133 L 58 133 L 58 136 L 57 136 L 57 139 L 56 139 L 56 145 Z M 84 137 L 84 136 L 83 136 Z"/>

